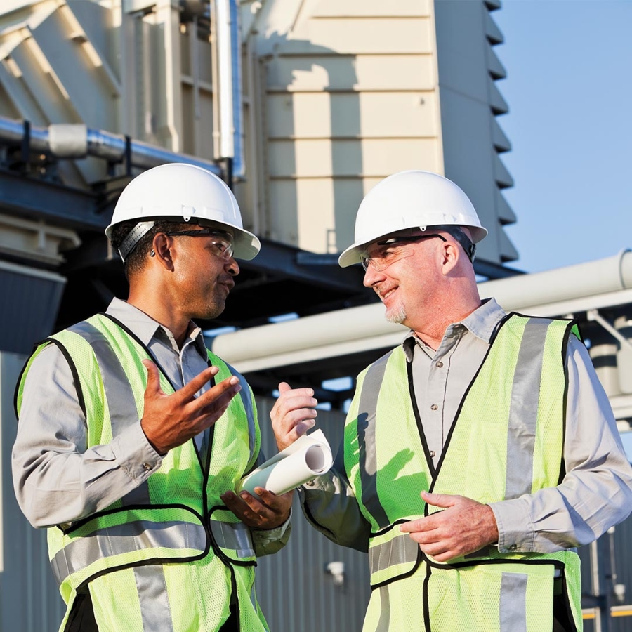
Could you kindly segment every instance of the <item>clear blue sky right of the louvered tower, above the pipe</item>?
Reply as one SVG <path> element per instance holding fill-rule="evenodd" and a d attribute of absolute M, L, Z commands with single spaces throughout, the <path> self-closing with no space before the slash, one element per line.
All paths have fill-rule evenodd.
<path fill-rule="evenodd" d="M 498 117 L 520 253 L 539 272 L 632 248 L 632 0 L 503 0 Z"/>

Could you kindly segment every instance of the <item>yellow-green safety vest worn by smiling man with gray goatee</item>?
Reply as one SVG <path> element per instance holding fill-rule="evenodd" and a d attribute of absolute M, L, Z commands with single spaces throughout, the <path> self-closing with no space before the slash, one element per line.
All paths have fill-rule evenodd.
<path fill-rule="evenodd" d="M 423 503 L 423 489 L 492 503 L 559 484 L 571 331 L 579 337 L 565 320 L 512 314 L 502 322 L 436 468 L 402 347 L 358 376 L 345 425 L 345 470 L 371 525 L 365 632 L 417 631 L 422 620 L 426 632 L 551 632 L 555 577 L 581 629 L 575 551 L 500 553 L 489 546 L 439 563 L 398 528 L 440 511 Z M 409 608 L 390 607 L 408 600 L 415 602 Z"/>

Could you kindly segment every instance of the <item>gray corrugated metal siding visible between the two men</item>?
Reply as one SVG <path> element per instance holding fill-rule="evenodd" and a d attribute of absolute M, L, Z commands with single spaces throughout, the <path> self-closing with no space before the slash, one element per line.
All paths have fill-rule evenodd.
<path fill-rule="evenodd" d="M 275 400 L 257 397 L 261 445 L 267 456 L 277 452 L 269 412 Z M 318 412 L 317 428 L 327 436 L 334 454 L 343 435 L 345 416 Z M 369 602 L 367 555 L 338 546 L 313 529 L 303 517 L 294 494 L 292 534 L 288 545 L 258 560 L 259 603 L 273 632 L 360 632 Z M 325 568 L 345 564 L 345 583 L 334 586 Z"/>

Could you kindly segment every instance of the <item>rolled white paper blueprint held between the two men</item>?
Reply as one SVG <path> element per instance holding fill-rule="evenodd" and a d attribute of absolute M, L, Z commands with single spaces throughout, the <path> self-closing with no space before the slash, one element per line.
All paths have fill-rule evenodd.
<path fill-rule="evenodd" d="M 292 445 L 244 476 L 238 492 L 246 489 L 256 496 L 254 488 L 263 487 L 275 494 L 285 494 L 328 472 L 333 462 L 327 438 L 322 430 L 315 430 L 311 435 L 299 437 Z"/>

